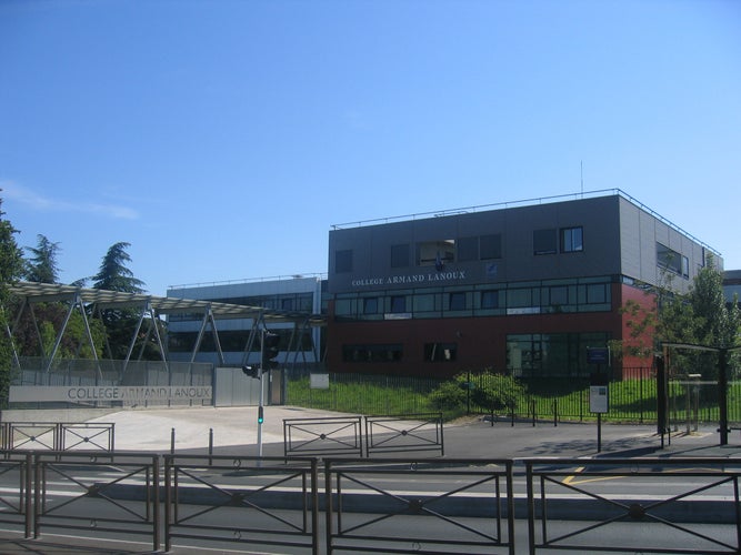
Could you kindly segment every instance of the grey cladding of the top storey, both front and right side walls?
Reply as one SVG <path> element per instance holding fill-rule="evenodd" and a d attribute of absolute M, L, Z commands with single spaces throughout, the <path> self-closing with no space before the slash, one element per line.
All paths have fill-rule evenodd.
<path fill-rule="evenodd" d="M 561 244 L 570 230 L 583 235 L 577 252 Z M 501 236 L 500 258 L 471 260 L 472 241 L 483 235 Z M 329 292 L 607 275 L 657 284 L 663 278 L 657 242 L 687 258 L 683 263 L 689 261 L 689 276 L 675 280 L 687 289 L 702 266 L 702 245 L 620 194 L 336 229 L 329 236 Z M 400 266 L 398 256 L 397 264 L 391 263 L 392 248 L 398 253 L 400 245 L 409 249 L 408 266 Z M 458 245 L 464 246 L 462 260 Z M 347 271 L 336 271 L 338 251 L 352 252 Z M 431 262 L 435 253 L 440 264 Z"/>

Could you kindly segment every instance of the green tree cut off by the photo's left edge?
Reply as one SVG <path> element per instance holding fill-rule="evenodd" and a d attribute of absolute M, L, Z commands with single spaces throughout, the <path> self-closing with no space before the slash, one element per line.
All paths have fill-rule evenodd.
<path fill-rule="evenodd" d="M 6 307 L 10 301 L 10 285 L 17 282 L 23 273 L 23 253 L 16 243 L 18 231 L 2 216 L 2 199 L 0 199 L 0 400 L 3 405 L 8 400 L 10 385 L 10 367 L 12 346 L 6 333 L 8 329 Z"/>

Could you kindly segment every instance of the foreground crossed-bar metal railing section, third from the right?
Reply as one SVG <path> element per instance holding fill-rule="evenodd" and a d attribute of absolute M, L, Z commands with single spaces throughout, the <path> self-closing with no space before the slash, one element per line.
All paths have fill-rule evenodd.
<path fill-rule="evenodd" d="M 173 539 L 319 553 L 317 461 L 164 457 L 166 551 Z"/>

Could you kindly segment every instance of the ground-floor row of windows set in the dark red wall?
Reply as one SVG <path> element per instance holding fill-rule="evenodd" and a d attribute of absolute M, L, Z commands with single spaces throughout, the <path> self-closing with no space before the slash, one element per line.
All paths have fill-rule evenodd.
<path fill-rule="evenodd" d="M 587 361 L 589 347 L 605 346 L 608 333 L 513 334 L 507 336 L 507 371 L 514 376 L 587 376 L 594 365 Z M 404 360 L 404 345 L 342 345 L 346 363 L 392 363 Z M 458 360 L 457 343 L 424 343 L 424 362 Z"/>

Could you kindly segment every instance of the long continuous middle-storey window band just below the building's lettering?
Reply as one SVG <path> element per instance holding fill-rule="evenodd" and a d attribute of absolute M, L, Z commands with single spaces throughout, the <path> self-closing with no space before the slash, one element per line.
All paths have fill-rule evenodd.
<path fill-rule="evenodd" d="M 611 310 L 609 278 L 483 287 L 341 293 L 334 300 L 334 315 L 382 320 Z"/>

